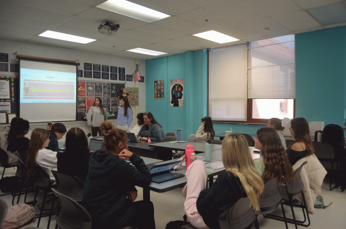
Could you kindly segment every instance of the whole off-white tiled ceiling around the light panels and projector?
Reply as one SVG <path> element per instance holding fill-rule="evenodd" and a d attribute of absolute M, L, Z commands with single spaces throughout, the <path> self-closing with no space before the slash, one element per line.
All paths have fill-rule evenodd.
<path fill-rule="evenodd" d="M 140 47 L 172 55 L 346 25 L 342 22 L 322 26 L 306 11 L 340 0 L 130 1 L 171 17 L 147 23 L 95 7 L 104 0 L 0 0 L 0 37 L 150 59 L 154 57 L 126 50 Z M 116 35 L 98 33 L 103 20 L 120 25 Z M 218 44 L 192 36 L 212 29 L 240 40 Z M 46 30 L 96 41 L 80 44 L 38 36 Z"/>

